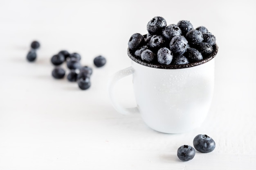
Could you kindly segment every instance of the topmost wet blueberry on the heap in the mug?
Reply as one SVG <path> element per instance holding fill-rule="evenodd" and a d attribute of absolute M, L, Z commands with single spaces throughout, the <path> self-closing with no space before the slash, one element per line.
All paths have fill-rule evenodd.
<path fill-rule="evenodd" d="M 166 20 L 163 17 L 153 17 L 147 24 L 148 33 L 151 35 L 161 35 L 166 27 Z"/>

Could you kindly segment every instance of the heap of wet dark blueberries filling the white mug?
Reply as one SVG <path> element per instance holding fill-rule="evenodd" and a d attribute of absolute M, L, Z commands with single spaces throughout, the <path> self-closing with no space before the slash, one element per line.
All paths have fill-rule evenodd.
<path fill-rule="evenodd" d="M 137 59 L 150 64 L 181 65 L 207 58 L 214 50 L 216 38 L 207 28 L 186 20 L 168 25 L 163 17 L 154 17 L 147 24 L 147 35 L 135 33 L 128 48 Z"/>

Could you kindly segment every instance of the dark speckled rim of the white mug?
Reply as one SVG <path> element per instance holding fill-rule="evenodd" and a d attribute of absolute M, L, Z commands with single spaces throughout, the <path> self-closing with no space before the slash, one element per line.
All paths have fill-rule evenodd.
<path fill-rule="evenodd" d="M 132 61 L 135 61 L 136 63 L 139 63 L 141 65 L 145 65 L 151 68 L 161 68 L 161 69 L 181 69 L 181 68 L 191 68 L 191 67 L 195 67 L 197 65 L 201 65 L 204 63 L 207 63 L 208 61 L 210 61 L 211 59 L 213 59 L 216 54 L 218 52 L 218 46 L 217 44 L 213 45 L 213 52 L 205 59 L 201 60 L 201 61 L 195 61 L 193 63 L 189 63 L 189 64 L 181 64 L 181 65 L 161 65 L 161 64 L 152 64 L 152 63 L 148 63 L 146 61 L 143 61 L 137 57 L 135 57 L 134 55 L 132 55 L 131 50 L 128 48 L 127 50 L 127 54 L 130 57 L 130 59 L 132 59 Z"/>

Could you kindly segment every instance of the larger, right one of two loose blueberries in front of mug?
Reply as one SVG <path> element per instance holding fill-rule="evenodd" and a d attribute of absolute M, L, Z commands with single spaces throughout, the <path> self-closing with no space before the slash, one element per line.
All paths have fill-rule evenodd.
<path fill-rule="evenodd" d="M 193 140 L 196 150 L 202 153 L 209 153 L 215 149 L 214 140 L 207 135 L 197 135 Z"/>

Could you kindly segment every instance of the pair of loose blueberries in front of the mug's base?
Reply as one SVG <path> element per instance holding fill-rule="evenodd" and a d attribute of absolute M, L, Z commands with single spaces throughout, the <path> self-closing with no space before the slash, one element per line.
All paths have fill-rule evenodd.
<path fill-rule="evenodd" d="M 193 140 L 193 145 L 201 153 L 209 153 L 216 146 L 214 140 L 207 135 L 197 135 Z M 177 156 L 182 161 L 189 161 L 194 158 L 195 149 L 189 145 L 182 145 L 177 150 Z"/>

